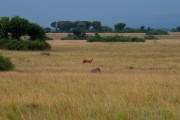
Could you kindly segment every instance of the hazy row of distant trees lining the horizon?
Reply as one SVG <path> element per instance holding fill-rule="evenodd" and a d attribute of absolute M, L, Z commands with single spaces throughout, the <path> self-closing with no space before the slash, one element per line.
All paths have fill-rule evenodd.
<path fill-rule="evenodd" d="M 145 26 L 140 26 L 140 28 L 135 29 L 127 27 L 126 23 L 119 22 L 114 25 L 114 28 L 102 25 L 100 21 L 54 21 L 51 23 L 52 30 L 46 28 L 47 32 L 72 32 L 74 29 L 81 29 L 85 32 L 147 32 L 151 28 L 145 28 Z"/>

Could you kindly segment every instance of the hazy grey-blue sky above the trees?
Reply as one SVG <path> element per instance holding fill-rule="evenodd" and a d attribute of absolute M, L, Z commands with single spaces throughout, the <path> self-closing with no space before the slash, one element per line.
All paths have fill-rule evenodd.
<path fill-rule="evenodd" d="M 18 15 L 43 27 L 53 21 L 101 21 L 113 27 L 180 26 L 180 0 L 1 0 L 0 17 Z"/>

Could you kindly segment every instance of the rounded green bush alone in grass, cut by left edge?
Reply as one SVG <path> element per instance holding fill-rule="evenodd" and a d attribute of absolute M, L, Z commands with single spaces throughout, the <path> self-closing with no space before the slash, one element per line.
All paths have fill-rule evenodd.
<path fill-rule="evenodd" d="M 14 65 L 11 63 L 10 59 L 0 55 L 0 71 L 8 71 L 13 69 Z"/>

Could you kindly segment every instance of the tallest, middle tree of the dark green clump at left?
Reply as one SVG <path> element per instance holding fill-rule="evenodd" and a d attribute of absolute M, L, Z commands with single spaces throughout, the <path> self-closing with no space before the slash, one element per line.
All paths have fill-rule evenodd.
<path fill-rule="evenodd" d="M 27 19 L 19 16 L 12 17 L 10 23 L 12 38 L 19 40 L 21 36 L 26 35 L 28 25 L 29 21 Z"/>

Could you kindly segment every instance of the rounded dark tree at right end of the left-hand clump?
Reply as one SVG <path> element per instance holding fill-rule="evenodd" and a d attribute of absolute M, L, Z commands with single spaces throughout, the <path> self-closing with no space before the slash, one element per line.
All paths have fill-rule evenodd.
<path fill-rule="evenodd" d="M 37 23 L 30 23 L 28 26 L 28 35 L 30 36 L 30 40 L 44 40 L 45 30 Z"/>

